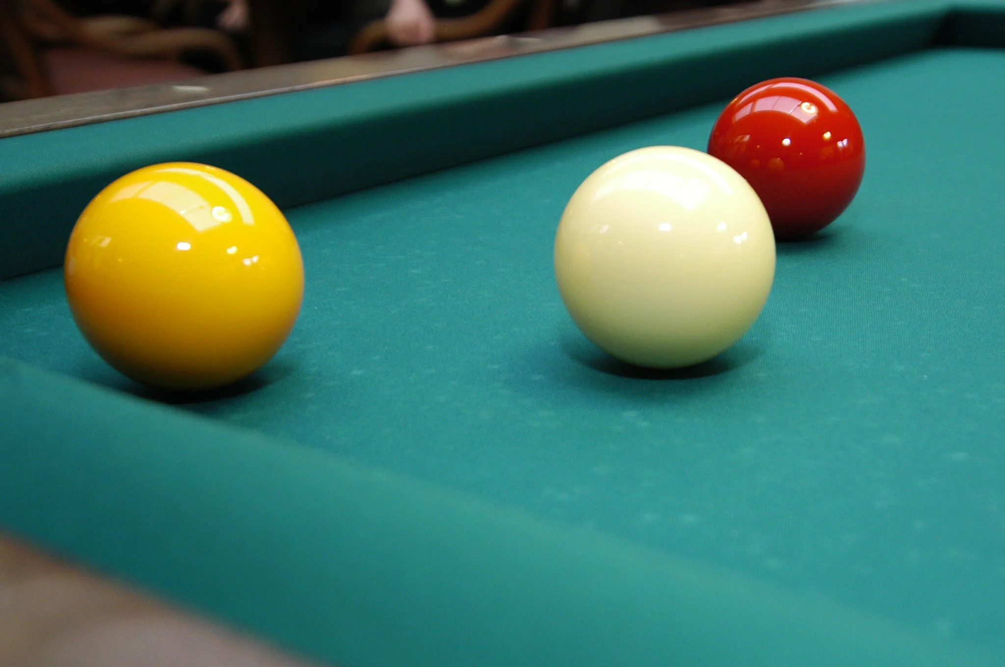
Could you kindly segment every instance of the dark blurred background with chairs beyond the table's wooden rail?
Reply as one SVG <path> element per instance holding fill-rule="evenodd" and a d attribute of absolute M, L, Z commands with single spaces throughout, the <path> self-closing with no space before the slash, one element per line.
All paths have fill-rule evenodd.
<path fill-rule="evenodd" d="M 0 101 L 521 33 L 722 0 L 0 0 Z"/>

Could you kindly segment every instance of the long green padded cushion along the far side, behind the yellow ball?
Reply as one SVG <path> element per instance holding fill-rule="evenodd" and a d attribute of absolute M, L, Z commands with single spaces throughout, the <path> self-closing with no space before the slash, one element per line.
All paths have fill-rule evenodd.
<path fill-rule="evenodd" d="M 819 9 L 0 140 L 0 279 L 58 266 L 119 176 L 189 160 L 280 207 L 932 44 L 946 2 Z"/>

